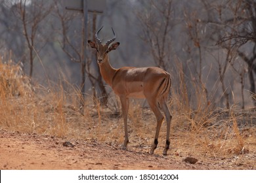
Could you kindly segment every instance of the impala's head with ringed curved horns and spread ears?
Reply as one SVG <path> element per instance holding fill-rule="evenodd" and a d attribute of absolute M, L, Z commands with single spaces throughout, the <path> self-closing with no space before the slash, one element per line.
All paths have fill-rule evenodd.
<path fill-rule="evenodd" d="M 99 64 L 106 61 L 108 59 L 108 53 L 111 52 L 112 50 L 116 50 L 116 48 L 120 44 L 119 42 L 114 42 L 113 44 L 111 44 L 116 39 L 116 35 L 115 35 L 113 28 L 112 28 L 112 31 L 113 31 L 114 37 L 112 39 L 108 40 L 106 42 L 106 44 L 102 44 L 102 41 L 100 41 L 100 39 L 98 38 L 98 33 L 100 32 L 102 27 L 100 29 L 98 29 L 98 31 L 95 33 L 96 42 L 91 41 L 91 40 L 88 41 L 91 48 L 94 48 L 97 50 L 97 61 Z"/>

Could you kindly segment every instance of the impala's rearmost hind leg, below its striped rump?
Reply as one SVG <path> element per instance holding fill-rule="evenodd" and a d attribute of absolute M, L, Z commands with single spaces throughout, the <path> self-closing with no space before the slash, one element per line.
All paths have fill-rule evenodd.
<path fill-rule="evenodd" d="M 166 144 L 165 144 L 165 148 L 163 149 L 163 155 L 167 155 L 167 150 L 169 150 L 169 145 L 170 145 L 170 129 L 171 129 L 172 116 L 170 114 L 167 103 L 165 102 L 164 99 L 160 101 L 160 105 L 161 105 L 161 108 L 163 109 L 163 113 L 165 114 L 166 124 L 167 124 Z"/>

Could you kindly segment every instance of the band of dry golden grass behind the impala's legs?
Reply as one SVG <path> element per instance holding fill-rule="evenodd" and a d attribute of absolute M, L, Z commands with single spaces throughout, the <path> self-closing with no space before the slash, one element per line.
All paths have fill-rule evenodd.
<path fill-rule="evenodd" d="M 100 107 L 88 96 L 83 111 L 79 108 L 79 92 L 66 92 L 61 84 L 43 88 L 30 85 L 20 66 L 0 60 L 0 129 L 48 134 L 72 139 L 90 139 L 119 146 L 123 141 L 123 120 L 115 107 Z M 172 91 L 169 101 L 171 124 L 170 154 L 223 158 L 239 154 L 256 154 L 255 111 L 213 109 L 203 103 L 205 97 L 196 90 L 196 110 L 189 107 L 186 86 Z M 70 88 L 72 85 L 70 85 Z M 181 89 L 181 90 L 180 90 Z M 182 93 L 182 95 L 181 95 Z M 115 100 L 115 99 L 113 99 Z M 156 122 L 143 101 L 131 101 L 129 110 L 129 148 L 148 152 Z M 160 133 L 161 154 L 165 144 L 166 124 Z"/>

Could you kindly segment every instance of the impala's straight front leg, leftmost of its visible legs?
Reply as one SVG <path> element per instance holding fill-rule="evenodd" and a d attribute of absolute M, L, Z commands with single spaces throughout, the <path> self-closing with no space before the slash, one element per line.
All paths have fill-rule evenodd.
<path fill-rule="evenodd" d="M 122 107 L 122 115 L 123 115 L 123 122 L 125 127 L 125 139 L 123 140 L 123 150 L 127 150 L 127 144 L 129 142 L 128 138 L 128 127 L 127 127 L 127 116 L 128 116 L 128 109 L 129 109 L 129 98 L 126 96 L 120 96 L 121 107 Z"/>

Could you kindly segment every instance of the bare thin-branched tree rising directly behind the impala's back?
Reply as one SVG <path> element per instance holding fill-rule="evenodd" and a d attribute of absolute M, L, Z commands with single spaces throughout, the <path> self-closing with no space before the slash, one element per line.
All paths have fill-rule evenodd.
<path fill-rule="evenodd" d="M 142 1 L 143 3 L 143 1 Z M 144 8 L 147 6 L 147 8 Z M 136 14 L 142 27 L 141 38 L 150 46 L 150 53 L 158 67 L 167 69 L 170 62 L 173 1 L 147 1 Z"/>

